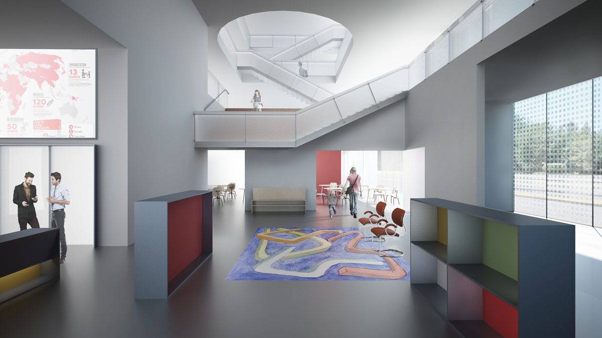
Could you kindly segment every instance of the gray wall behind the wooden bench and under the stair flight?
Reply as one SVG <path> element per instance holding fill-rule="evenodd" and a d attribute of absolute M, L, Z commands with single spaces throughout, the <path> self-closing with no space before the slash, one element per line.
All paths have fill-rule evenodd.
<path fill-rule="evenodd" d="M 404 150 L 404 131 L 400 100 L 297 148 L 246 150 L 245 207 L 250 210 L 255 187 L 290 186 L 304 187 L 307 209 L 315 210 L 316 150 Z"/>

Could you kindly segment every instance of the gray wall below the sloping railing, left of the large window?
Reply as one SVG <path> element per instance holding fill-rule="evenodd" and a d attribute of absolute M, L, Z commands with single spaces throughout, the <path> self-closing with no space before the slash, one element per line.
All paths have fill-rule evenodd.
<path fill-rule="evenodd" d="M 425 147 L 426 197 L 485 203 L 486 67 L 479 63 L 582 2 L 536 2 L 410 90 L 406 147 Z"/>

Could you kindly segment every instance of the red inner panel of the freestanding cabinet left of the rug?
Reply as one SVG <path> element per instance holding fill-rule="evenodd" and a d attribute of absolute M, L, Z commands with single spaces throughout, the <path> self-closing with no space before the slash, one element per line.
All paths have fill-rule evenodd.
<path fill-rule="evenodd" d="M 167 204 L 167 281 L 203 252 L 203 196 Z"/>

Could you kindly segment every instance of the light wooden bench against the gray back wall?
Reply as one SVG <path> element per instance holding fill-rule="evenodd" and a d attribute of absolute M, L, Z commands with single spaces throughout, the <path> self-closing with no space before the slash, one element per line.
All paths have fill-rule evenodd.
<path fill-rule="evenodd" d="M 305 188 L 253 188 L 251 212 L 305 210 Z"/>

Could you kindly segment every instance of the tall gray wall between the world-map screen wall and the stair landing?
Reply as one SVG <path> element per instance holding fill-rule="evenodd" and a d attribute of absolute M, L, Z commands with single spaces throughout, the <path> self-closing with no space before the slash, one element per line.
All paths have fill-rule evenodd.
<path fill-rule="evenodd" d="M 122 166 L 129 217 L 123 244 L 131 244 L 135 200 L 206 188 L 207 152 L 193 147 L 192 112 L 211 100 L 207 26 L 190 0 L 63 2 L 128 48 L 128 161 Z"/>

